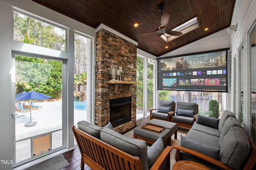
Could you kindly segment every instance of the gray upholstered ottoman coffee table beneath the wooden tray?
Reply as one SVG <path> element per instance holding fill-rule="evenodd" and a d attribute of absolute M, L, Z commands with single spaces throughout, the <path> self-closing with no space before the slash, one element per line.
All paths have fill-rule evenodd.
<path fill-rule="evenodd" d="M 156 125 L 156 127 L 158 127 L 156 129 L 159 129 L 159 127 L 165 127 L 165 128 L 160 132 L 158 132 L 157 130 L 154 131 L 154 130 L 148 130 L 148 129 L 142 128 L 146 124 Z M 166 143 L 166 145 L 171 146 L 172 144 L 171 137 L 173 134 L 174 134 L 174 139 L 177 139 L 177 124 L 169 121 L 152 119 L 140 126 L 135 127 L 133 133 L 134 133 L 133 134 L 134 138 L 142 139 L 149 144 L 153 144 L 159 137 L 162 137 L 163 142 Z"/>

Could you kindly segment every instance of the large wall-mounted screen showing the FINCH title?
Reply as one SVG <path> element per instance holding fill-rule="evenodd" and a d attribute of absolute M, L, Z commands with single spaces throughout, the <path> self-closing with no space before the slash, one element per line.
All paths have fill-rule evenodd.
<path fill-rule="evenodd" d="M 228 50 L 157 59 L 158 90 L 228 92 Z"/>

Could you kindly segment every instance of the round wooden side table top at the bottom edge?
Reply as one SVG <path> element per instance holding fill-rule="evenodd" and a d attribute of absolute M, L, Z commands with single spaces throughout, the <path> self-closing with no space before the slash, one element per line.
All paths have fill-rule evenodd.
<path fill-rule="evenodd" d="M 172 166 L 172 170 L 210 170 L 206 166 L 190 160 L 180 160 Z"/>

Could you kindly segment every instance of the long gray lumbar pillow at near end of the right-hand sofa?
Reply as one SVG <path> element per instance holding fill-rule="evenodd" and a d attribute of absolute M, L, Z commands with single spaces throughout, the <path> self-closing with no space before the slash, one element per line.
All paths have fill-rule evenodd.
<path fill-rule="evenodd" d="M 202 144 L 198 141 L 188 139 L 182 135 L 180 135 L 180 146 L 195 150 L 196 152 L 200 152 L 202 154 L 210 156 L 211 158 L 219 160 L 219 156 L 220 156 L 219 148 L 215 148 L 215 147 L 211 147 L 211 146 Z"/>

